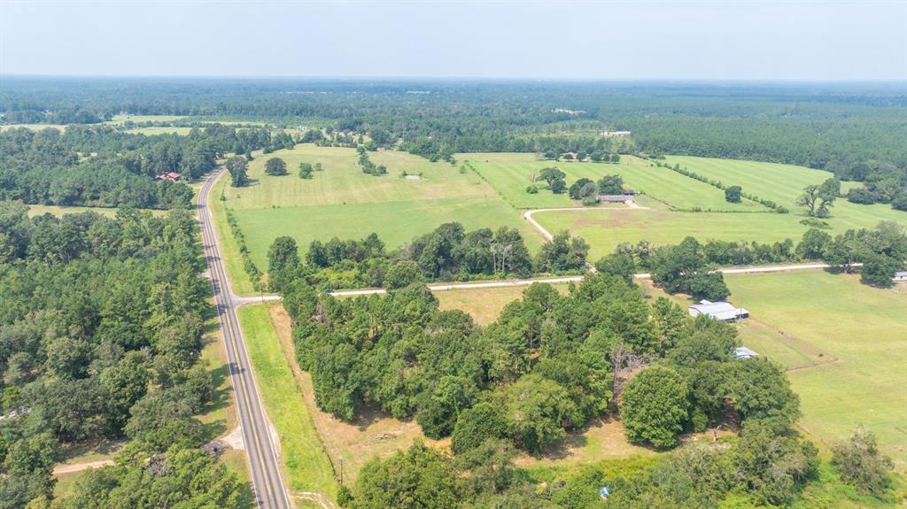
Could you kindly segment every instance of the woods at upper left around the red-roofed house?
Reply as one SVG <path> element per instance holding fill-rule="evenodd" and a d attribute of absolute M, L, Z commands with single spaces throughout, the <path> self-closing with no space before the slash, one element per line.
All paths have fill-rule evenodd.
<path fill-rule="evenodd" d="M 192 190 L 156 181 L 161 173 L 192 180 L 228 151 L 292 146 L 283 131 L 210 125 L 189 136 L 132 135 L 108 126 L 0 132 L 0 200 L 55 206 L 188 206 Z"/>

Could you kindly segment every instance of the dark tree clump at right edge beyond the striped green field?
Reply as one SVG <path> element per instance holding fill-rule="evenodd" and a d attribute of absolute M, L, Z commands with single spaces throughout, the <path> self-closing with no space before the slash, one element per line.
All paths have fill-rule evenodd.
<path fill-rule="evenodd" d="M 847 192 L 847 201 L 851 203 L 890 203 L 896 210 L 907 210 L 907 167 L 870 161 L 854 165 L 839 178 L 863 182 L 863 187 L 853 187 Z"/>

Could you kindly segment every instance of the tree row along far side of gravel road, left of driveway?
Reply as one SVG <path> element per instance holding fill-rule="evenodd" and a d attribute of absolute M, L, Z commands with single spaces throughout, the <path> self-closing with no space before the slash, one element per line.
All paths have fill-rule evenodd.
<path fill-rule="evenodd" d="M 394 252 L 387 252 L 384 242 L 372 234 L 358 241 L 315 240 L 300 257 L 292 238 L 278 237 L 268 251 L 268 285 L 279 292 L 285 282 L 302 277 L 327 288 L 394 289 L 423 281 L 576 274 L 586 269 L 588 253 L 585 241 L 563 231 L 533 259 L 514 228 L 467 232 L 459 223 L 438 226 Z"/>

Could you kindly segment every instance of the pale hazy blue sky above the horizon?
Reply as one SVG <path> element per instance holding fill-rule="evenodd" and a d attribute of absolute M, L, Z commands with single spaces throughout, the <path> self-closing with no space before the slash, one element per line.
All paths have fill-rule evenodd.
<path fill-rule="evenodd" d="M 0 73 L 907 81 L 892 2 L 11 2 Z"/>

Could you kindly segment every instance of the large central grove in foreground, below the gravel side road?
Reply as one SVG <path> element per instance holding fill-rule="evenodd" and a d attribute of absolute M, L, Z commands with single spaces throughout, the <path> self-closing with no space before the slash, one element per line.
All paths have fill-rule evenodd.
<path fill-rule="evenodd" d="M 539 453 L 604 415 L 629 372 L 656 360 L 621 399 L 634 442 L 672 447 L 728 412 L 788 424 L 797 415 L 781 370 L 732 359 L 733 327 L 694 321 L 666 299 L 650 306 L 610 274 L 590 274 L 566 296 L 534 284 L 484 329 L 438 311 L 418 283 L 337 301 L 296 280 L 284 299 L 321 408 L 346 419 L 360 405 L 414 417 L 428 437 L 453 435 L 458 454 L 486 438 Z"/>

